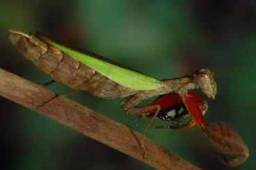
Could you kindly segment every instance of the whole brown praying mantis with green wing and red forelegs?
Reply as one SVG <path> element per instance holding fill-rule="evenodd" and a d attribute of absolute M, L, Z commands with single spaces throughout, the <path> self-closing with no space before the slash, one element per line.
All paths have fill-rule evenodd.
<path fill-rule="evenodd" d="M 42 33 L 25 33 L 15 29 L 10 29 L 9 33 L 10 42 L 36 67 L 54 80 L 75 90 L 86 90 L 101 98 L 125 98 L 120 106 L 127 114 L 139 113 L 140 117 L 152 117 L 150 123 L 143 130 L 141 139 L 143 149 L 145 149 L 144 135 L 154 119 L 158 117 L 163 121 L 177 122 L 190 116 L 191 121 L 182 126 L 161 126 L 159 128 L 183 129 L 197 125 L 219 151 L 230 155 L 241 155 L 242 158 L 239 162 L 230 164 L 225 161 L 230 166 L 237 166 L 248 157 L 248 154 L 245 153 L 248 148 L 242 140 L 239 141 L 241 139 L 239 136 L 236 138 L 239 142 L 234 142 L 230 136 L 218 135 L 218 130 L 216 133 L 215 129 L 220 124 L 217 126 L 215 124 L 214 126 L 207 125 L 204 119 L 207 110 L 206 101 L 198 94 L 190 92 L 190 90 L 199 89 L 209 99 L 215 99 L 217 85 L 211 70 L 202 68 L 188 76 L 157 80 L 152 76 L 120 67 L 111 60 L 95 53 L 72 49 L 70 46 L 51 40 Z M 161 94 L 164 95 L 149 105 L 136 107 L 144 99 Z M 170 103 L 170 101 L 172 102 Z M 164 105 L 166 102 L 167 105 Z M 164 109 L 166 112 L 163 112 Z M 221 126 L 224 127 L 223 124 Z M 231 131 L 227 130 L 227 133 Z M 218 142 L 216 142 L 217 139 Z M 236 150 L 235 147 L 225 147 L 230 146 L 230 142 L 234 143 L 235 146 L 239 145 L 243 151 L 241 149 Z M 219 146 L 220 143 L 223 145 Z"/>

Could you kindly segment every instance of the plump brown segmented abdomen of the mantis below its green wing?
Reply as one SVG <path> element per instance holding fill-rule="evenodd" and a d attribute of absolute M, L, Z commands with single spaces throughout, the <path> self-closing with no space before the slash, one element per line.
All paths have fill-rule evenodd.
<path fill-rule="evenodd" d="M 125 97 L 138 91 L 115 83 L 40 40 L 37 35 L 15 30 L 10 33 L 10 42 L 36 67 L 60 83 L 77 90 L 88 90 L 95 96 L 104 98 Z"/>

